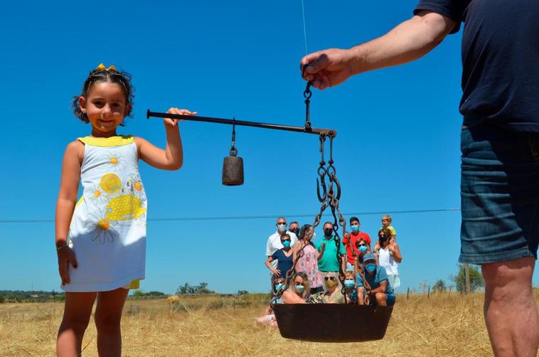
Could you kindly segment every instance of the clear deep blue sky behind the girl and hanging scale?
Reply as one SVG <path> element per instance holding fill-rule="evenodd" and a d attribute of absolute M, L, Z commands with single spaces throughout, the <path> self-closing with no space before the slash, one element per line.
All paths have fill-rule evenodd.
<path fill-rule="evenodd" d="M 416 2 L 330 7 L 305 0 L 309 52 L 380 36 L 409 18 Z M 53 220 L 63 150 L 90 134 L 73 117 L 70 100 L 101 62 L 127 70 L 137 88 L 135 117 L 122 133 L 160 146 L 163 124 L 145 119 L 148 108 L 304 123 L 301 0 L 8 1 L 0 32 L 0 220 Z M 415 63 L 365 73 L 311 98 L 314 127 L 338 131 L 341 210 L 358 213 L 371 236 L 380 214 L 367 213 L 393 215 L 404 257 L 401 292 L 436 279 L 449 283 L 457 271 L 459 211 L 395 212 L 459 207 L 460 40 L 460 33 L 449 36 Z M 314 218 L 319 211 L 318 138 L 239 127 L 245 185 L 225 187 L 220 175 L 230 127 L 185 122 L 181 136 L 180 171 L 140 165 L 149 199 L 142 289 L 172 293 L 184 282 L 208 282 L 219 292 L 265 291 L 265 244 L 275 218 Z M 272 218 L 156 220 L 244 215 Z M 0 289 L 58 290 L 52 222 L 0 223 L 0 239 Z"/>

